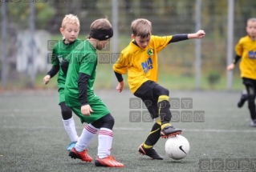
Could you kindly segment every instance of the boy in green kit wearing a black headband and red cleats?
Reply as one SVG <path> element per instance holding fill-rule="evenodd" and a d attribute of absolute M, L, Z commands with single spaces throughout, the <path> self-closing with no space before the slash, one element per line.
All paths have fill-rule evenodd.
<path fill-rule="evenodd" d="M 92 158 L 87 154 L 87 147 L 98 130 L 99 146 L 95 159 L 95 166 L 123 167 L 110 156 L 112 148 L 114 118 L 110 114 L 104 102 L 95 95 L 93 84 L 95 82 L 95 70 L 97 67 L 97 55 L 95 50 L 102 50 L 112 38 L 112 25 L 106 18 L 100 18 L 91 23 L 90 34 L 87 40 L 68 55 L 67 61 L 62 62 L 64 73 L 67 71 L 65 84 L 65 99 L 67 106 L 80 118 L 81 122 L 87 122 L 75 147 L 70 151 L 71 158 L 79 158 L 85 162 L 91 162 Z M 68 70 L 67 70 L 68 66 Z"/>

